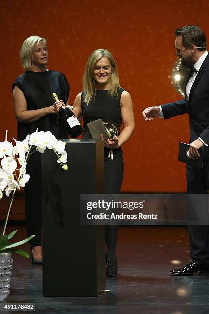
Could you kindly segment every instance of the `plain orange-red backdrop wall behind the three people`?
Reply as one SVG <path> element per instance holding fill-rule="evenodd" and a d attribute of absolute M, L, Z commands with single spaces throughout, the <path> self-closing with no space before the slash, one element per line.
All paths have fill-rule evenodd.
<path fill-rule="evenodd" d="M 70 102 L 82 90 L 82 73 L 90 53 L 110 50 L 120 84 L 130 92 L 136 128 L 123 146 L 123 191 L 185 191 L 185 165 L 177 161 L 178 142 L 188 141 L 187 116 L 145 122 L 145 107 L 178 100 L 170 82 L 176 60 L 174 31 L 199 24 L 209 37 L 207 0 L 1 0 L 1 123 L 9 139 L 17 135 L 11 86 L 23 72 L 19 50 L 25 38 L 48 40 L 48 68 L 64 72 Z"/>

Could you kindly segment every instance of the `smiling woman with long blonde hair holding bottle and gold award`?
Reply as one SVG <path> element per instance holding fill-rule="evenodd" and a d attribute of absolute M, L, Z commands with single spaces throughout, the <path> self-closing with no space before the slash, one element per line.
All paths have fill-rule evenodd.
<path fill-rule="evenodd" d="M 58 112 L 62 102 L 55 103 Z M 83 75 L 83 91 L 76 96 L 73 112 L 84 120 L 83 138 L 91 138 L 87 123 L 97 120 L 114 124 L 119 136 L 105 145 L 105 193 L 120 192 L 123 179 L 121 146 L 134 130 L 134 113 L 130 94 L 120 87 L 117 65 L 106 49 L 97 49 L 89 57 Z M 120 133 L 121 123 L 123 130 Z M 112 154 L 110 152 L 113 152 Z M 117 274 L 116 243 L 118 226 L 106 225 L 106 275 Z"/>

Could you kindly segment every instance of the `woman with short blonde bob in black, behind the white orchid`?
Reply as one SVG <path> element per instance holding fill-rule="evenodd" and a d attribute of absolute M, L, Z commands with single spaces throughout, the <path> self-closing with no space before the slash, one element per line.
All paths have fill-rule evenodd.
<path fill-rule="evenodd" d="M 51 94 L 68 104 L 69 84 L 64 74 L 47 69 L 48 50 L 45 38 L 31 36 L 20 50 L 25 73 L 12 85 L 14 112 L 18 121 L 18 140 L 38 131 L 50 131 L 56 138 L 67 138 L 67 133 L 57 124 Z M 25 211 L 28 236 L 31 239 L 32 262 L 41 264 L 41 155 L 31 155 L 26 172 L 30 180 L 25 186 Z"/>

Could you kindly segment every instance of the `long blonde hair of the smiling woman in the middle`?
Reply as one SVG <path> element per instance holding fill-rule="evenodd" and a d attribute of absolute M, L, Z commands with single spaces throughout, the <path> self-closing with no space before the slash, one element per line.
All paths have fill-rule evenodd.
<path fill-rule="evenodd" d="M 84 91 L 84 101 L 89 104 L 92 98 L 95 98 L 96 85 L 94 80 L 94 66 L 95 64 L 101 60 L 103 57 L 106 57 L 110 61 L 110 65 L 112 68 L 112 73 L 109 78 L 110 88 L 108 90 L 108 94 L 110 97 L 116 96 L 118 97 L 118 87 L 120 86 L 118 70 L 115 59 L 110 51 L 106 49 L 97 49 L 92 52 L 90 55 L 85 72 L 83 74 L 83 91 Z"/>

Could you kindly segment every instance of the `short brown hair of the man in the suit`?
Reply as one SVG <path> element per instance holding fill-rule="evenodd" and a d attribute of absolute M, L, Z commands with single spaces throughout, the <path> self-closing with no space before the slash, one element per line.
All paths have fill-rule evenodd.
<path fill-rule="evenodd" d="M 175 31 L 176 36 L 182 36 L 182 44 L 187 49 L 191 45 L 195 45 L 199 51 L 206 50 L 207 40 L 204 32 L 197 25 L 185 25 L 177 28 Z"/>

